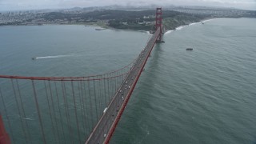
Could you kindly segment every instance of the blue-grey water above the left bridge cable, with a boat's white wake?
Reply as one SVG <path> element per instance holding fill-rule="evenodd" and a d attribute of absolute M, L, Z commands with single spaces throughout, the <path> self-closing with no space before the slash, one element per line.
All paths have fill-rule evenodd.
<path fill-rule="evenodd" d="M 149 34 L 89 26 L 0 27 L 0 74 L 103 74 L 138 57 Z M 36 57 L 36 60 L 32 58 Z"/>

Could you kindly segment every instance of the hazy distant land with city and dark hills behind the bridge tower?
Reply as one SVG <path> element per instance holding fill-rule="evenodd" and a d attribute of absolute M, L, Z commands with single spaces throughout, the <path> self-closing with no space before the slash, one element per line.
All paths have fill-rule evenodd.
<path fill-rule="evenodd" d="M 122 10 L 123 9 L 123 10 Z M 154 30 L 155 8 L 146 7 L 74 7 L 62 10 L 33 10 L 0 14 L 0 26 L 82 24 L 122 30 Z M 170 6 L 162 9 L 166 30 L 200 22 L 207 18 L 256 18 L 256 11 L 207 7 Z"/>

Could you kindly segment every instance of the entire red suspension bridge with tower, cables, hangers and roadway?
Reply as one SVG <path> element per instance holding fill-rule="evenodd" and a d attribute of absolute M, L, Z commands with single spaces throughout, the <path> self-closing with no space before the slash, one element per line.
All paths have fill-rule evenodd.
<path fill-rule="evenodd" d="M 87 77 L 0 75 L 0 144 L 109 143 L 154 44 L 162 42 L 162 8 L 154 35 L 119 70 Z"/>

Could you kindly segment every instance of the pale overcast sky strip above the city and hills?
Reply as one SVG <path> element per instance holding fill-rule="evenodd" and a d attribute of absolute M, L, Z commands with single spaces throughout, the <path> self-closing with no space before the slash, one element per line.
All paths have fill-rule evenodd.
<path fill-rule="evenodd" d="M 225 6 L 256 10 L 256 0 L 0 0 L 2 10 L 72 8 L 74 6 Z"/>

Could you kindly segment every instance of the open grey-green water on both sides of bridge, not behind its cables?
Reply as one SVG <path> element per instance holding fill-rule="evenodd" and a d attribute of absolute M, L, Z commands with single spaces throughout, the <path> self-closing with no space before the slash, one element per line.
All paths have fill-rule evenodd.
<path fill-rule="evenodd" d="M 0 74 L 103 74 L 137 58 L 149 37 L 89 26 L 3 26 Z M 221 18 L 167 32 L 110 143 L 255 143 L 255 40 L 254 18 Z"/>

